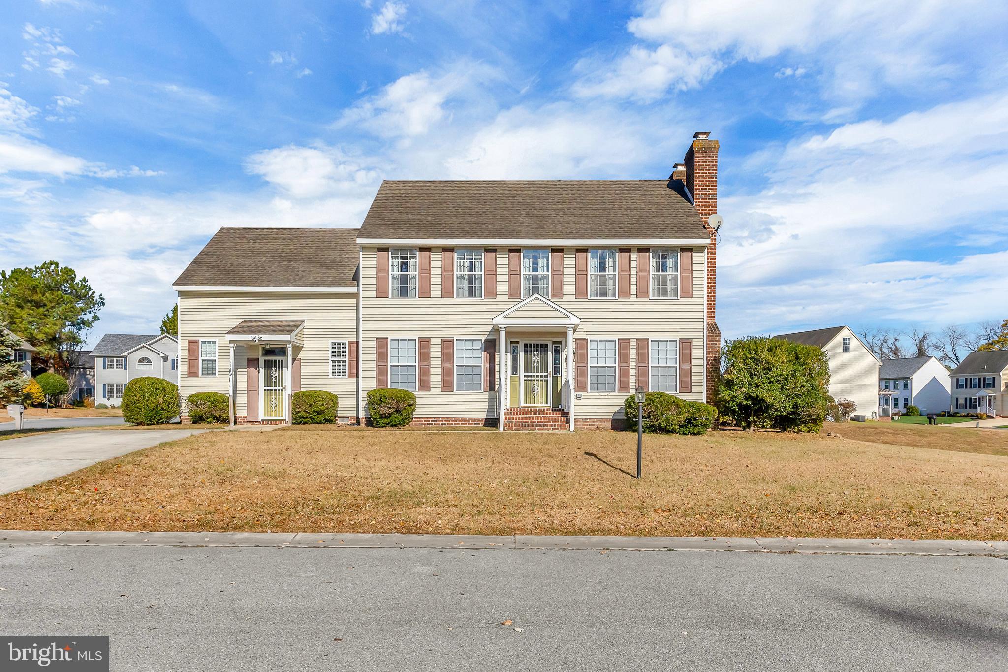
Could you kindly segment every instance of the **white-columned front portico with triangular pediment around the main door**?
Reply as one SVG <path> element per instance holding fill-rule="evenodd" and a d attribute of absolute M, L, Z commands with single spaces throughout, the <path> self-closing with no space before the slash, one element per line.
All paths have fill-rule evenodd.
<path fill-rule="evenodd" d="M 509 411 L 534 417 L 554 409 L 575 423 L 574 332 L 581 318 L 545 296 L 532 294 L 493 318 L 500 357 L 497 428 L 505 429 Z M 544 417 L 544 416 L 543 416 Z"/>

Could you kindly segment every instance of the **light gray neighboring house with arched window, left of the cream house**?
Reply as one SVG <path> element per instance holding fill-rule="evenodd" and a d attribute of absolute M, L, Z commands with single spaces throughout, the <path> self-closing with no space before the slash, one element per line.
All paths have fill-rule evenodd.
<path fill-rule="evenodd" d="M 178 384 L 178 340 L 166 333 L 106 333 L 95 359 L 95 403 L 118 406 L 134 378 L 163 378 Z"/>

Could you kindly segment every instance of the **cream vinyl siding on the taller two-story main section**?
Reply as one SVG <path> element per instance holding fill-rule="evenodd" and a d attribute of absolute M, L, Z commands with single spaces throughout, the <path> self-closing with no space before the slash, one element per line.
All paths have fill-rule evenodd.
<path fill-rule="evenodd" d="M 632 248 L 634 252 L 636 248 Z M 613 300 L 576 299 L 575 248 L 563 250 L 563 289 L 566 298 L 550 299 L 581 317 L 575 330 L 576 339 L 629 339 L 631 387 L 636 386 L 637 339 L 691 339 L 692 340 L 692 392 L 681 395 L 685 399 L 704 400 L 704 338 L 705 338 L 705 250 L 694 247 L 694 297 L 674 300 L 639 299 L 637 292 L 637 255 L 631 254 L 630 293 L 634 298 Z M 503 312 L 520 298 L 507 297 L 508 255 L 507 248 L 497 248 L 497 298 L 451 299 L 440 298 L 442 254 L 439 247 L 431 247 L 430 295 L 431 298 L 402 301 L 375 297 L 376 248 L 362 250 L 361 296 L 362 334 L 361 368 L 363 393 L 375 387 L 375 339 L 420 338 L 430 339 L 430 392 L 417 392 L 417 417 L 496 417 L 495 392 L 440 392 L 440 340 L 442 339 L 497 339 L 492 327 L 495 315 Z M 546 306 L 531 303 L 530 313 L 523 317 L 555 319 L 556 313 Z M 524 308 L 522 309 L 524 310 Z M 508 341 L 528 340 L 564 342 L 566 330 L 557 327 L 549 331 L 532 333 L 518 328 L 508 328 Z M 506 344 L 505 344 L 505 347 Z M 498 354 L 499 357 L 499 354 Z M 566 362 L 564 351 L 564 367 Z M 498 371 L 498 376 L 500 372 Z M 495 385 L 496 387 L 496 385 Z M 623 400 L 627 393 L 580 393 L 575 401 L 577 418 L 621 418 Z M 517 405 L 512 400 L 512 405 Z"/>

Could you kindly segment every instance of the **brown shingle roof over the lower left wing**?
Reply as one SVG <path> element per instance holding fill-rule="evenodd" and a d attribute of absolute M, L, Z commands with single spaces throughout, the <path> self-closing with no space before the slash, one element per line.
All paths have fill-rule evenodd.
<path fill-rule="evenodd" d="M 175 287 L 354 287 L 357 229 L 220 229 Z"/>

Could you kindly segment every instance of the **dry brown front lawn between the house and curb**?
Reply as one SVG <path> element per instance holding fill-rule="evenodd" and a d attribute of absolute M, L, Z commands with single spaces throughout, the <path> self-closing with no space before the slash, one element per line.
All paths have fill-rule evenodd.
<path fill-rule="evenodd" d="M 831 430 L 646 436 L 639 482 L 629 432 L 210 432 L 0 498 L 0 528 L 1008 538 L 1008 433 Z"/>

